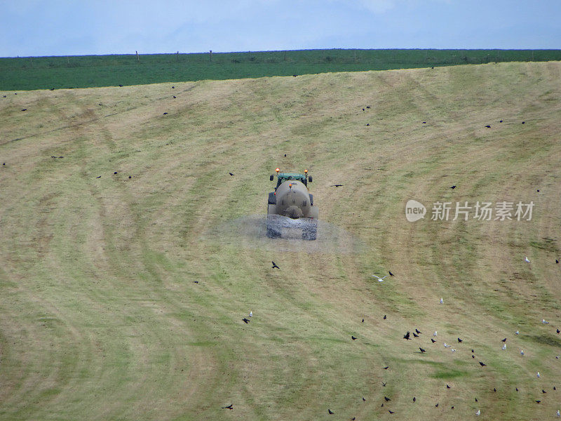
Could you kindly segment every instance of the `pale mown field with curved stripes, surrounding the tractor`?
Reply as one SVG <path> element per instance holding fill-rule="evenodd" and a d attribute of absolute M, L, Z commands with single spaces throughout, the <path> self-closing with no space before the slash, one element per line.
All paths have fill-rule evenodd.
<path fill-rule="evenodd" d="M 0 420 L 555 417 L 560 79 L 518 62 L 0 91 Z M 223 229 L 266 212 L 276 166 L 309 169 L 344 253 Z M 534 209 L 432 221 L 436 201 Z"/>

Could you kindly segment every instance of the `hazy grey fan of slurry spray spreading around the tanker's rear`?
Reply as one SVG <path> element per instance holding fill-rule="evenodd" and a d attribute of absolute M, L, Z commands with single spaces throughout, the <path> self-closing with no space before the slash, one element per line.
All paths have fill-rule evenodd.
<path fill-rule="evenodd" d="M 330 222 L 318 220 L 316 240 L 307 241 L 302 239 L 302 220 L 280 218 L 276 226 L 282 231 L 282 238 L 266 236 L 266 215 L 248 215 L 217 225 L 205 232 L 203 239 L 236 243 L 244 248 L 304 253 L 351 254 L 360 253 L 364 248 L 360 239 Z"/>

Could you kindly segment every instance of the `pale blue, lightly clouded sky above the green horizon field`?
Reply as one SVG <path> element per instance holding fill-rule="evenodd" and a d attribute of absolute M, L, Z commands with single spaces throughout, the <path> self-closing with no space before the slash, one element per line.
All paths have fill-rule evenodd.
<path fill-rule="evenodd" d="M 561 0 L 0 0 L 0 57 L 561 48 Z"/>

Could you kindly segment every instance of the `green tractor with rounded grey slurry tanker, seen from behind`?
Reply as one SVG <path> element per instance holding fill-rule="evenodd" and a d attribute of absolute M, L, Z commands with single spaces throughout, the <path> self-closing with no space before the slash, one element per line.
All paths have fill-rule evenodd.
<path fill-rule="evenodd" d="M 279 238 L 284 228 L 301 227 L 302 239 L 315 240 L 318 207 L 313 206 L 313 195 L 308 191 L 308 182 L 312 182 L 308 170 L 304 174 L 279 173 L 276 168 L 276 176 L 275 191 L 269 193 L 267 206 L 267 236 L 271 239 Z M 270 180 L 273 181 L 274 178 L 271 175 Z"/>

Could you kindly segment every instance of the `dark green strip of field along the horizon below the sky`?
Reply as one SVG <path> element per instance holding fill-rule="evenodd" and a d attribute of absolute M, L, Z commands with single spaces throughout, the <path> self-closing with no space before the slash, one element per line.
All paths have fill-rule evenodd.
<path fill-rule="evenodd" d="M 0 58 L 4 91 L 561 60 L 561 50 L 302 50 Z"/>

